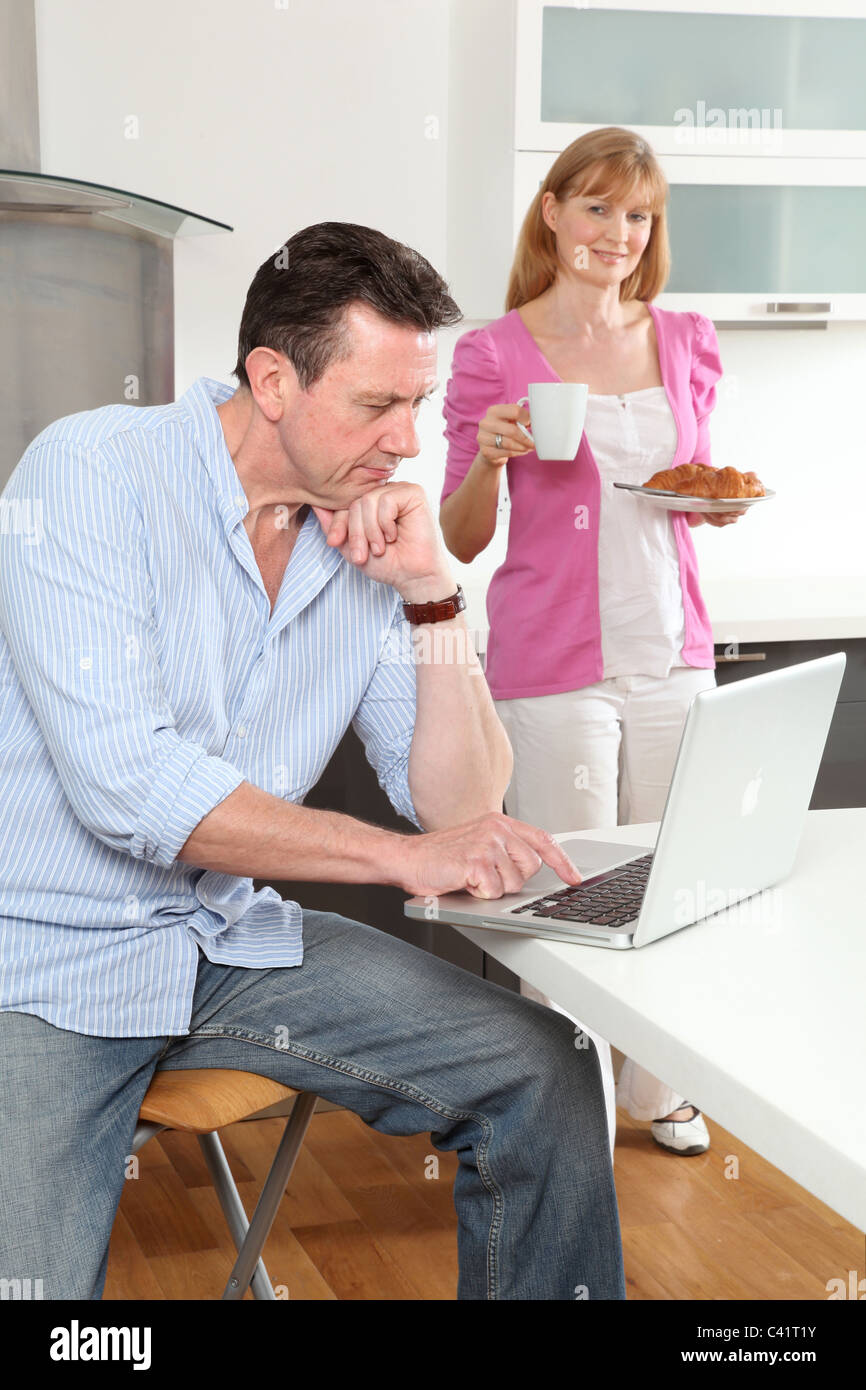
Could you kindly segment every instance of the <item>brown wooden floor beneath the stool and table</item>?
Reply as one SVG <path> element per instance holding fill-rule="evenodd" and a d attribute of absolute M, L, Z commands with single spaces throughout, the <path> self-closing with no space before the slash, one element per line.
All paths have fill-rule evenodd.
<path fill-rule="evenodd" d="M 284 1123 L 222 1131 L 249 1213 Z M 827 1280 L 862 1276 L 862 1233 L 710 1119 L 712 1147 L 694 1158 L 666 1154 L 623 1111 L 617 1123 L 628 1298 L 826 1300 Z M 218 1298 L 234 1247 L 197 1140 L 167 1131 L 138 1156 L 104 1298 Z M 278 1297 L 456 1298 L 456 1166 L 427 1134 L 379 1134 L 348 1111 L 314 1115 L 264 1248 Z"/>

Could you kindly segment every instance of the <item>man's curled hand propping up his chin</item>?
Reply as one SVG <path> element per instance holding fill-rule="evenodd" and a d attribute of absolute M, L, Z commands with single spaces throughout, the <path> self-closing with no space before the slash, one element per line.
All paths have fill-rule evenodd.
<path fill-rule="evenodd" d="M 385 482 L 343 512 L 313 510 L 328 545 L 371 580 L 391 584 L 409 603 L 446 596 L 427 592 L 448 580 L 448 562 L 424 488 L 416 482 Z"/>

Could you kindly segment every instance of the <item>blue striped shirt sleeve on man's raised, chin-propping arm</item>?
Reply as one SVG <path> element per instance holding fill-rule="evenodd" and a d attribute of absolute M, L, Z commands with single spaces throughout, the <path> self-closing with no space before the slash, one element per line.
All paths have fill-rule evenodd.
<path fill-rule="evenodd" d="M 367 762 L 375 770 L 379 787 L 393 809 L 418 830 L 424 830 L 409 790 L 409 752 L 414 726 L 416 666 L 407 623 L 398 602 L 352 727 L 364 744 Z"/>

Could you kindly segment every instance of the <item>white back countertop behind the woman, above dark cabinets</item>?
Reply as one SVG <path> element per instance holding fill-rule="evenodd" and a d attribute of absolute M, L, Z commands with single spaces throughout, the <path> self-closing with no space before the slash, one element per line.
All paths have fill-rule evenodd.
<path fill-rule="evenodd" d="M 460 580 L 467 626 L 475 646 L 487 651 L 487 584 Z M 852 577 L 791 575 L 749 580 L 706 580 L 703 600 L 713 641 L 805 642 L 866 637 L 866 573 Z"/>

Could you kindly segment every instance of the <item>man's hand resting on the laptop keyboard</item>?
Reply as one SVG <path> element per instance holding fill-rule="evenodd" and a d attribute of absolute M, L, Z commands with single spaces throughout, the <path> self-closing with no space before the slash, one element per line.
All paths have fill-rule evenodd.
<path fill-rule="evenodd" d="M 463 826 L 407 837 L 395 865 L 395 881 L 417 897 L 466 891 L 474 898 L 502 898 L 520 892 L 542 863 L 564 883 L 581 883 L 580 873 L 546 830 L 489 812 Z"/>

